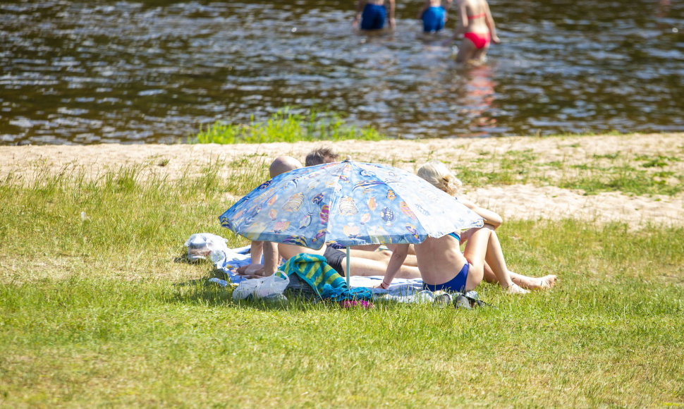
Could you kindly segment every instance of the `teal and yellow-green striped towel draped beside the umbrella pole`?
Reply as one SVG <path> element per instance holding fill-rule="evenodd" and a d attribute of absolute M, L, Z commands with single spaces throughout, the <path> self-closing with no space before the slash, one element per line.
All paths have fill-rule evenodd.
<path fill-rule="evenodd" d="M 281 277 L 297 274 L 316 291 L 319 297 L 323 296 L 323 287 L 326 284 L 331 288 L 347 288 L 347 282 L 343 276 L 325 262 L 325 257 L 319 255 L 307 253 L 295 255 L 281 265 L 276 274 Z"/>

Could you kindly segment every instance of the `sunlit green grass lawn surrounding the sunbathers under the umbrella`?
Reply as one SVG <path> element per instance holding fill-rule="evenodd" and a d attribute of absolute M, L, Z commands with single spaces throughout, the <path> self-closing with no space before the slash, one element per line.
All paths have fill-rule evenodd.
<path fill-rule="evenodd" d="M 0 181 L 0 407 L 684 406 L 683 228 L 507 221 L 509 267 L 560 281 L 479 310 L 235 303 L 183 243 L 246 244 L 221 197 L 265 166 L 35 176 Z"/>

